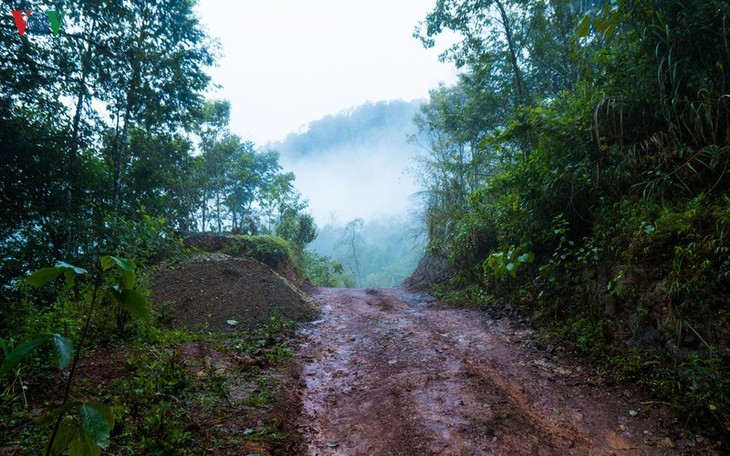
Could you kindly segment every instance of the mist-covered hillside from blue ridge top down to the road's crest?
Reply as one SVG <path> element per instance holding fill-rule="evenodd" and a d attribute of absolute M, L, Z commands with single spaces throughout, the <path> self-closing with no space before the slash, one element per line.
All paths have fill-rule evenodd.
<path fill-rule="evenodd" d="M 411 172 L 419 149 L 409 138 L 416 133 L 413 118 L 422 103 L 366 103 L 272 144 L 300 177 L 318 219 L 309 250 L 343 267 L 339 279 L 314 274 L 318 283 L 390 287 L 413 271 L 423 237 L 414 220 L 418 187 Z"/>

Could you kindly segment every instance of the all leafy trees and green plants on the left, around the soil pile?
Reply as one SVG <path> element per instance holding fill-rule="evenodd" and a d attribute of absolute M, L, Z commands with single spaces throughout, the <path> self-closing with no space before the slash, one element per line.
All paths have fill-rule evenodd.
<path fill-rule="evenodd" d="M 179 401 L 190 382 L 171 358 L 174 333 L 131 318 L 147 310 L 133 265 L 212 230 L 271 235 L 240 242 L 274 261 L 301 252 L 313 219 L 278 153 L 230 132 L 228 102 L 204 98 L 216 45 L 194 0 L 56 1 L 57 28 L 27 2 L 4 6 L 33 12 L 0 15 L 0 437 L 36 454 L 49 430 L 48 454 L 99 454 L 122 426 L 132 452 L 176 451 L 190 440 Z M 93 280 L 69 279 L 86 270 Z M 62 373 L 41 345 L 55 346 Z M 119 392 L 88 369 L 74 379 L 87 348 L 130 346 L 154 360 L 140 356 Z M 46 420 L 29 413 L 56 406 Z"/>

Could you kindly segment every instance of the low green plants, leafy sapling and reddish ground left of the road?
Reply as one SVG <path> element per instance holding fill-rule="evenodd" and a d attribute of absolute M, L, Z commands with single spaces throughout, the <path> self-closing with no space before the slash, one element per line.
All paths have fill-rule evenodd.
<path fill-rule="evenodd" d="M 39 280 L 36 273 L 28 282 Z M 26 319 L 32 324 L 14 333 L 19 339 L 13 350 L 3 341 L 4 450 L 292 451 L 298 436 L 291 423 L 298 411 L 285 372 L 296 324 L 274 315 L 243 332 L 171 329 L 157 324 L 164 315 L 147 307 L 146 290 L 131 280 L 134 288 L 119 296 L 114 281 L 52 281 L 54 306 Z M 120 298 L 132 289 L 133 299 Z M 33 338 L 23 342 L 26 333 Z M 37 343 L 39 333 L 50 336 L 48 343 Z"/>

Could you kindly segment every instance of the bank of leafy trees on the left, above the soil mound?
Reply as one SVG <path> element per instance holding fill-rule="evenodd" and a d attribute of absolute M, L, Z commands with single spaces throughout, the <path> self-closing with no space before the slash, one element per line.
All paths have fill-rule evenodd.
<path fill-rule="evenodd" d="M 56 2 L 57 35 L 21 36 L 2 15 L 3 284 L 60 259 L 145 264 L 174 246 L 173 232 L 311 240 L 278 154 L 228 130 L 228 102 L 203 98 L 216 48 L 194 6 Z"/>

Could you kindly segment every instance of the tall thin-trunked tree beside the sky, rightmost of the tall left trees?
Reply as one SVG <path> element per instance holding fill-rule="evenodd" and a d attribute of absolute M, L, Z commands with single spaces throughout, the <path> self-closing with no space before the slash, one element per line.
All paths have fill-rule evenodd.
<path fill-rule="evenodd" d="M 106 152 L 115 210 L 129 161 L 130 128 L 174 131 L 189 125 L 210 81 L 203 67 L 212 63 L 194 1 L 136 0 L 131 5 L 123 9 L 117 33 L 107 42 L 109 61 L 101 84 L 113 119 Z"/>

